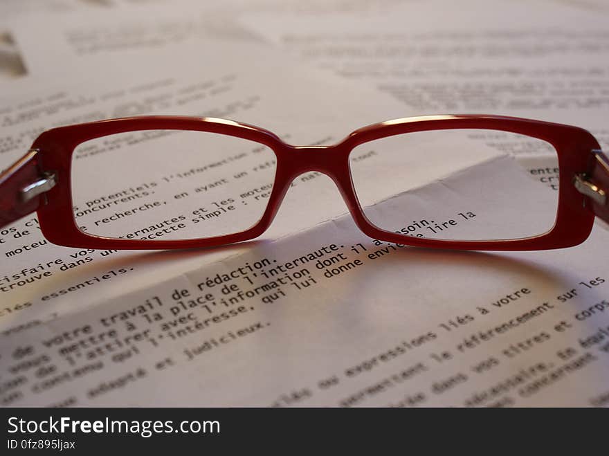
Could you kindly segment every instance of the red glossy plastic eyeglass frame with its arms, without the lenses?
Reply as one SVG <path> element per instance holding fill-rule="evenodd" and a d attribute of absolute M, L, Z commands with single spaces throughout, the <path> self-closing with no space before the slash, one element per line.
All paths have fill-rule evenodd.
<path fill-rule="evenodd" d="M 231 235 L 188 240 L 111 239 L 81 231 L 73 217 L 71 195 L 72 154 L 84 141 L 127 131 L 176 129 L 208 131 L 235 136 L 270 147 L 277 156 L 273 190 L 264 215 L 248 230 Z M 558 154 L 558 213 L 554 227 L 542 235 L 525 239 L 493 241 L 449 241 L 411 237 L 376 228 L 365 217 L 354 190 L 349 154 L 357 145 L 371 140 L 414 131 L 442 129 L 490 129 L 532 136 L 552 144 Z M 366 235 L 382 241 L 410 246 L 459 250 L 545 250 L 570 247 L 583 242 L 594 215 L 609 221 L 606 197 L 609 189 L 609 161 L 597 140 L 579 127 L 505 116 L 422 116 L 389 120 L 354 131 L 340 143 L 329 146 L 293 146 L 265 129 L 232 120 L 178 116 L 142 116 L 101 120 L 44 131 L 30 152 L 0 174 L 0 227 L 37 210 L 43 235 L 53 244 L 96 249 L 172 249 L 219 246 L 262 235 L 278 211 L 293 179 L 303 172 L 327 174 L 338 186 L 349 212 Z M 23 189 L 54 175 L 55 185 L 24 201 Z M 579 176 L 576 188 L 574 179 Z M 44 185 L 42 185 L 44 187 Z M 42 188 L 41 187 L 41 188 Z"/>

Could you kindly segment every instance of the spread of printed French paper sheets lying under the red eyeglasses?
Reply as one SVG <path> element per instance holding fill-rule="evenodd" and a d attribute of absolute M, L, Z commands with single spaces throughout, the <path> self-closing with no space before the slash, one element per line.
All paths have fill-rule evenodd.
<path fill-rule="evenodd" d="M 579 2 L 36 3 L 0 6 L 0 57 L 21 68 L 0 71 L 0 167 L 46 129 L 146 114 L 330 145 L 392 118 L 489 113 L 578 125 L 609 145 L 607 12 Z M 529 170 L 556 166 L 516 154 Z M 529 184 L 555 198 L 505 156 L 433 163 L 397 167 L 415 189 L 398 194 L 366 163 L 367 217 L 401 226 L 392 208 L 430 210 L 478 235 L 455 208 L 482 176 L 516 201 Z M 453 197 L 435 199 L 437 185 Z M 437 235 L 419 219 L 414 235 Z M 313 172 L 262 237 L 219 248 L 60 247 L 30 215 L 0 232 L 0 404 L 607 405 L 607 246 L 601 224 L 580 246 L 540 252 L 377 241 Z"/>

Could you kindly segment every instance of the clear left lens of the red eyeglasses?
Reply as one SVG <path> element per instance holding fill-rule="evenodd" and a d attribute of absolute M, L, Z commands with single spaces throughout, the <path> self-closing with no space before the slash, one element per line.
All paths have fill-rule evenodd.
<path fill-rule="evenodd" d="M 76 147 L 76 224 L 123 239 L 199 239 L 254 226 L 275 179 L 275 153 L 206 131 L 130 131 Z"/>

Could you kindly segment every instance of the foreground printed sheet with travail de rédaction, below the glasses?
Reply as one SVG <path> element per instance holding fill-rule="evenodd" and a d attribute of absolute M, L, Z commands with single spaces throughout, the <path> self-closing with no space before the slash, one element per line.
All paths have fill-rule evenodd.
<path fill-rule="evenodd" d="M 484 166 L 505 174 L 501 161 Z M 473 232 L 501 219 L 493 208 L 469 220 L 455 213 L 455 203 L 471 205 L 467 174 L 446 185 L 455 199 L 436 201 L 435 219 L 453 217 L 452 228 Z M 540 197 L 552 192 L 539 189 Z M 401 198 L 415 214 L 428 207 L 412 206 L 410 192 Z M 412 234 L 437 236 L 422 225 Z M 608 405 L 609 277 L 596 254 L 608 242 L 595 229 L 567 250 L 423 250 L 372 241 L 339 217 L 86 311 L 4 331 L 0 401 Z"/>

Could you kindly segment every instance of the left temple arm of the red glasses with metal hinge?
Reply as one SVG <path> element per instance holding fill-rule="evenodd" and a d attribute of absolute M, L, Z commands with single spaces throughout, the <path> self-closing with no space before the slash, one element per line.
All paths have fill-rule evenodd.
<path fill-rule="evenodd" d="M 37 153 L 31 149 L 0 172 L 0 228 L 37 210 L 55 186 L 55 174 L 40 170 Z"/>

